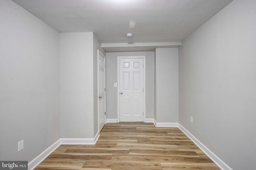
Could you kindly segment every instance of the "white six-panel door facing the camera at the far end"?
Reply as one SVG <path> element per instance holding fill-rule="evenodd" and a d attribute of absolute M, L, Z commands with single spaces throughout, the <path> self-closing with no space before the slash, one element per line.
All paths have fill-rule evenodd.
<path fill-rule="evenodd" d="M 120 121 L 143 121 L 144 59 L 119 59 Z"/>

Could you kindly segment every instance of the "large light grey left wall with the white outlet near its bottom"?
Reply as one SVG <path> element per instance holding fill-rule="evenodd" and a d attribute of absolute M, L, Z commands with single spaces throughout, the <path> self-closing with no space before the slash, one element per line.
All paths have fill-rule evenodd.
<path fill-rule="evenodd" d="M 60 139 L 58 36 L 11 0 L 0 1 L 0 160 L 30 162 Z"/>

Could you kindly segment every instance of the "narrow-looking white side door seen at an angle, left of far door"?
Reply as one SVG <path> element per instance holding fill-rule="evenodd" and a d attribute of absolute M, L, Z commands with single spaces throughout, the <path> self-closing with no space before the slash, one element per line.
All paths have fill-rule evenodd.
<path fill-rule="evenodd" d="M 106 123 L 106 59 L 98 50 L 98 119 L 99 131 Z"/>

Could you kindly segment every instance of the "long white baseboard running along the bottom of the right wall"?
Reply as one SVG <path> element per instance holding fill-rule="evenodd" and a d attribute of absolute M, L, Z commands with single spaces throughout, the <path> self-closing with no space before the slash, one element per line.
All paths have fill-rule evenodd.
<path fill-rule="evenodd" d="M 185 129 L 180 123 L 178 123 L 178 128 L 187 135 L 191 141 L 193 141 L 216 165 L 218 165 L 222 170 L 232 170 L 225 162 L 223 162 L 214 152 L 208 149 L 202 142 L 200 142 L 194 135 L 192 135 L 187 129 Z"/>

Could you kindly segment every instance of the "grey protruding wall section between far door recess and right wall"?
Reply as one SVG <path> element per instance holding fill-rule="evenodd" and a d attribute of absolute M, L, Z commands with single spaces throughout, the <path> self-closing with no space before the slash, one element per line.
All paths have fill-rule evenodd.
<path fill-rule="evenodd" d="M 178 48 L 155 49 L 155 115 L 157 123 L 178 123 Z"/>

